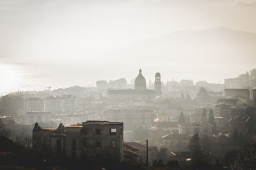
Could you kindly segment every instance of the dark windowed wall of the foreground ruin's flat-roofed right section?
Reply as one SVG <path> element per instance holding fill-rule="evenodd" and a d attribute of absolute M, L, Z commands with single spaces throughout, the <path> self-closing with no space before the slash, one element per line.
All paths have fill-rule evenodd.
<path fill-rule="evenodd" d="M 97 134 L 97 129 L 100 131 L 99 134 Z M 115 135 L 110 134 L 111 129 L 116 129 Z M 65 152 L 67 157 L 96 161 L 122 160 L 123 125 L 97 124 L 66 127 L 66 135 Z M 76 143 L 75 148 L 74 143 Z"/>

